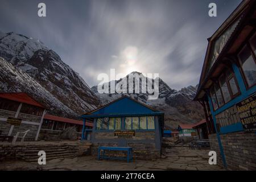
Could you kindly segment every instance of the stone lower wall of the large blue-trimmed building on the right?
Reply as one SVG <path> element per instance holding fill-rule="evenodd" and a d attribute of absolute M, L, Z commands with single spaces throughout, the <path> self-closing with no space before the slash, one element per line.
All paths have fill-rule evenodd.
<path fill-rule="evenodd" d="M 221 134 L 221 143 L 228 169 L 256 170 L 256 134 L 228 133 Z M 210 148 L 217 152 L 218 164 L 222 165 L 216 134 L 210 135 Z"/>

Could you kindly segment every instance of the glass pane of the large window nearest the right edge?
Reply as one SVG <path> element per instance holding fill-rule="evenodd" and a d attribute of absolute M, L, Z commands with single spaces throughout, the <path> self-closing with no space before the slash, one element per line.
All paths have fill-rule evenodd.
<path fill-rule="evenodd" d="M 243 73 L 246 77 L 249 86 L 256 83 L 256 64 L 251 55 L 251 50 L 248 46 L 243 47 L 242 51 L 238 54 L 240 63 L 242 65 Z"/>

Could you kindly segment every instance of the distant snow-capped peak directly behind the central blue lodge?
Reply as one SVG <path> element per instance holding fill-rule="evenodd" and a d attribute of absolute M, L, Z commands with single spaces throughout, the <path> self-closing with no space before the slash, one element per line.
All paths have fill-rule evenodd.
<path fill-rule="evenodd" d="M 129 75 L 141 75 L 141 73 L 132 72 Z M 166 84 L 166 82 L 164 82 L 161 78 L 158 78 L 159 97 L 156 100 L 149 100 L 148 95 L 150 94 L 148 93 L 142 94 L 140 92 L 139 94 L 136 94 L 135 92 L 129 92 L 129 75 L 125 77 L 125 80 L 127 80 L 127 94 L 118 94 L 117 92 L 98 93 L 98 86 L 93 86 L 91 89 L 94 93 L 96 93 L 96 95 L 101 99 L 101 101 L 104 101 L 105 103 L 113 101 L 119 97 L 122 97 L 123 95 L 127 95 L 144 104 L 150 105 L 152 107 L 155 107 L 156 109 L 164 111 L 165 125 L 171 127 L 172 129 L 176 129 L 177 125 L 179 125 L 180 123 L 196 123 L 199 122 L 202 118 L 204 118 L 203 107 L 198 102 L 192 101 L 193 97 L 195 97 L 196 95 L 197 86 L 188 86 L 177 91 L 175 89 L 171 89 Z M 142 78 L 145 78 L 143 75 L 141 76 L 142 77 L 139 78 L 139 88 L 142 88 Z M 115 85 L 121 84 L 123 79 L 124 78 L 115 80 Z M 152 81 L 148 80 L 147 84 L 154 85 L 154 81 L 154 79 L 152 79 Z M 135 80 L 133 80 L 132 84 L 130 83 L 130 85 L 133 85 L 133 90 L 135 89 L 135 83 Z M 108 85 L 110 90 L 110 82 L 108 83 Z M 101 88 L 104 88 L 104 85 L 100 86 Z"/>

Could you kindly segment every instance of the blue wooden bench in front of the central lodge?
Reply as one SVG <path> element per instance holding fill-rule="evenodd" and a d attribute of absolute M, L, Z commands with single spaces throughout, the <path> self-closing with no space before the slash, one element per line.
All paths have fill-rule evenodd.
<path fill-rule="evenodd" d="M 109 151 L 127 151 L 127 163 L 129 161 L 133 160 L 133 154 L 132 154 L 132 147 L 105 147 L 105 146 L 100 146 L 98 147 L 98 160 L 102 159 L 125 159 L 126 158 L 121 158 L 121 157 L 111 157 L 111 156 L 106 156 L 105 155 L 105 150 Z M 101 156 L 101 150 L 103 151 L 103 155 Z"/>

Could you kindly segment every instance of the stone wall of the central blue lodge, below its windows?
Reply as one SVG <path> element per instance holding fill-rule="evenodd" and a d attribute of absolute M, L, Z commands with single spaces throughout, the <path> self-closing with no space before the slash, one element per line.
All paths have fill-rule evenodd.
<path fill-rule="evenodd" d="M 95 132 L 92 146 L 92 154 L 98 154 L 99 146 L 126 146 L 133 147 L 133 158 L 156 159 L 160 158 L 160 150 L 156 149 L 155 131 L 138 131 L 134 138 L 117 138 L 113 132 Z M 106 155 L 126 156 L 126 152 L 106 151 Z"/>

